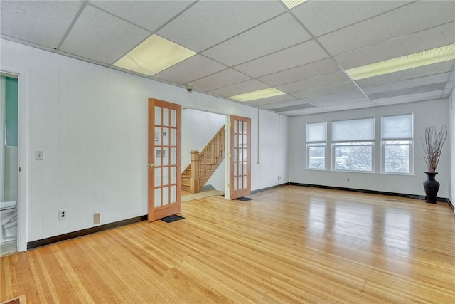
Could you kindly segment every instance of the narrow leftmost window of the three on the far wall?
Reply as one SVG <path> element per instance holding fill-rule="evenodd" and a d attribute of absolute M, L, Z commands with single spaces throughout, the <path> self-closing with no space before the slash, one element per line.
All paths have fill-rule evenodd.
<path fill-rule="evenodd" d="M 306 124 L 306 167 L 326 169 L 327 123 Z"/>

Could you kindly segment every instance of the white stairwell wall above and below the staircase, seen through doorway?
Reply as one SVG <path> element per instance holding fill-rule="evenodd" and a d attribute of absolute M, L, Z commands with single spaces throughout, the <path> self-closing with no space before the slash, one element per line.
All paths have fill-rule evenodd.
<path fill-rule="evenodd" d="M 182 110 L 182 171 L 191 162 L 191 150 L 202 150 L 208 141 L 225 125 L 226 116 L 200 110 Z M 208 179 L 215 189 L 225 189 L 224 160 Z"/>

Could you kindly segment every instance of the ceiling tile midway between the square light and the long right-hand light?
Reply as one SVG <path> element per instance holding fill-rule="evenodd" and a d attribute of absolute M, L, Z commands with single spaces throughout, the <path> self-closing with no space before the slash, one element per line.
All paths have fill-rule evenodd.
<path fill-rule="evenodd" d="M 326 52 L 315 41 L 308 41 L 254 61 L 237 65 L 235 69 L 257 78 L 327 57 Z"/>

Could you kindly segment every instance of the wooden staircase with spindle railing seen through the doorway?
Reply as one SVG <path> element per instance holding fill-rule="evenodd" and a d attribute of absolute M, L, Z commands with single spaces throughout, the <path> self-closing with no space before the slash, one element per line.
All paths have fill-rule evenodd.
<path fill-rule="evenodd" d="M 198 193 L 223 162 L 225 152 L 225 127 L 212 137 L 203 150 L 191 151 L 191 163 L 182 172 L 182 190 Z"/>

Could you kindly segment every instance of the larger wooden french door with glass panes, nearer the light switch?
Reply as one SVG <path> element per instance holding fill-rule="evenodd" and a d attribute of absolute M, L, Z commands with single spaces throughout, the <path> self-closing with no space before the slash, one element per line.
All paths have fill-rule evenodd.
<path fill-rule="evenodd" d="M 149 221 L 181 211 L 181 105 L 149 98 Z"/>

